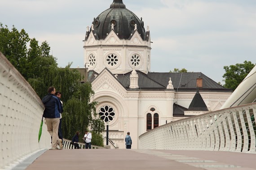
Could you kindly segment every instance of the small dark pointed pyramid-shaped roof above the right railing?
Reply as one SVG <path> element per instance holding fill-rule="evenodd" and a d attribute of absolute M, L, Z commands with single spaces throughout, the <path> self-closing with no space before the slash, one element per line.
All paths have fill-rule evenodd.
<path fill-rule="evenodd" d="M 208 111 L 208 108 L 203 101 L 201 94 L 199 93 L 199 89 L 196 90 L 194 98 L 190 103 L 188 111 Z"/>

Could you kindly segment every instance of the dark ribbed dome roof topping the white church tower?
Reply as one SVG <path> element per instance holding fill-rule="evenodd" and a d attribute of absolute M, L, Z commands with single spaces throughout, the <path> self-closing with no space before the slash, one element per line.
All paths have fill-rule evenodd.
<path fill-rule="evenodd" d="M 137 24 L 137 31 L 141 34 L 141 38 L 146 39 L 142 18 L 140 20 L 134 13 L 126 9 L 123 0 L 114 0 L 110 9 L 105 10 L 94 19 L 94 31 L 99 39 L 106 38 L 111 31 L 112 23 L 120 39 L 128 39 L 134 31 L 135 24 Z"/>

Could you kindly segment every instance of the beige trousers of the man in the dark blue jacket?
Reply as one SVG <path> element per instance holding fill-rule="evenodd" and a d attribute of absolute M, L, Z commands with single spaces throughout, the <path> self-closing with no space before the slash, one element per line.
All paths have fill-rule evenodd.
<path fill-rule="evenodd" d="M 45 120 L 47 125 L 47 131 L 53 137 L 52 148 L 57 149 L 57 143 L 60 140 L 58 137 L 60 118 L 45 118 Z"/>

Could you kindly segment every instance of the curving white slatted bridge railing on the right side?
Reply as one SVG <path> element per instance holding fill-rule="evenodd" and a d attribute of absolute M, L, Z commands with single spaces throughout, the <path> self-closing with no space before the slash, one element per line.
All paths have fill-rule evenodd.
<path fill-rule="evenodd" d="M 140 149 L 256 153 L 256 103 L 181 119 L 141 136 Z"/>

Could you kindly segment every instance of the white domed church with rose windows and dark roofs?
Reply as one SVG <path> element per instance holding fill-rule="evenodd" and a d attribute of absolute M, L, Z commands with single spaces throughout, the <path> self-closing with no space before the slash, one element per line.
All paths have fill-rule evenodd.
<path fill-rule="evenodd" d="M 97 112 L 109 122 L 112 148 L 125 148 L 130 132 L 132 149 L 137 149 L 142 133 L 218 110 L 232 93 L 201 72 L 150 72 L 150 51 L 149 27 L 145 30 L 142 18 L 122 0 L 114 0 L 87 27 L 84 64 Z"/>

